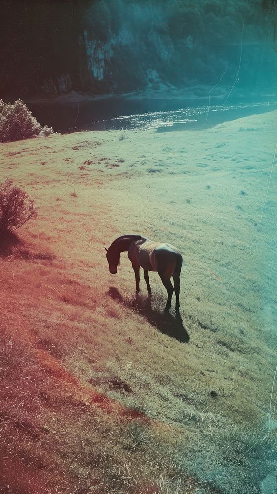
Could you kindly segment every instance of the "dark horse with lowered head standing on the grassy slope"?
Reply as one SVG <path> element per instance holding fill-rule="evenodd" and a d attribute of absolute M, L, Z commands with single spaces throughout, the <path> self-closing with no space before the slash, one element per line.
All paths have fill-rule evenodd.
<path fill-rule="evenodd" d="M 173 291 L 175 291 L 176 296 L 176 311 L 179 311 L 180 272 L 183 258 L 176 247 L 167 243 L 154 242 L 141 235 L 122 235 L 115 239 L 108 249 L 105 246 L 104 248 L 111 274 L 117 272 L 121 252 L 128 252 L 128 258 L 135 272 L 136 293 L 139 293 L 140 267 L 144 270 L 144 279 L 149 295 L 151 288 L 148 271 L 157 271 L 167 290 L 168 298 L 165 311 L 168 312 L 171 307 Z M 171 276 L 173 277 L 174 288 L 170 281 Z"/>

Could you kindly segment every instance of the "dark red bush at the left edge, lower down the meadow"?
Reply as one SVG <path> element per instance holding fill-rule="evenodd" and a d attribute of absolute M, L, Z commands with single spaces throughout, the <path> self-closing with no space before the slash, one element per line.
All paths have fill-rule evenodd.
<path fill-rule="evenodd" d="M 0 235 L 17 230 L 36 216 L 34 201 L 15 187 L 13 180 L 6 179 L 0 184 Z"/>

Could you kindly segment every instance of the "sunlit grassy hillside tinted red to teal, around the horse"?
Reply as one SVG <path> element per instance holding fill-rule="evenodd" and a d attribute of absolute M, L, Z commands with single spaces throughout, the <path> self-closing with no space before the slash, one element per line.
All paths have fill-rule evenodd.
<path fill-rule="evenodd" d="M 246 494 L 273 475 L 276 117 L 1 145 L 38 216 L 0 247 L 0 493 Z M 124 233 L 182 252 L 179 316 L 157 273 L 151 299 L 126 255 L 109 274 Z"/>

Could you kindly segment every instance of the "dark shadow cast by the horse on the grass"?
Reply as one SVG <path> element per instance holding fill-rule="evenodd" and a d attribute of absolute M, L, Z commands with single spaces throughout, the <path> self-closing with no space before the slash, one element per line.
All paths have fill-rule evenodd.
<path fill-rule="evenodd" d="M 151 305 L 151 294 L 146 299 L 137 295 L 134 300 L 125 300 L 117 288 L 110 287 L 107 295 L 125 307 L 138 312 L 138 314 L 145 317 L 149 324 L 163 334 L 167 334 L 181 343 L 188 343 L 190 336 L 184 328 L 180 313 L 176 311 L 176 315 L 173 317 L 169 312 L 161 313 L 153 309 Z"/>

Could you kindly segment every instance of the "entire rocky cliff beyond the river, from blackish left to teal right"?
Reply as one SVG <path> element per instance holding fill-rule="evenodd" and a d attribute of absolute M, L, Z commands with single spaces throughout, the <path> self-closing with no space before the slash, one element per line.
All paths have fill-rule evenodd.
<path fill-rule="evenodd" d="M 54 2 L 55 3 L 55 2 Z M 6 7 L 2 95 L 214 85 L 273 92 L 275 3 L 47 0 Z M 269 2 L 270 3 L 270 2 Z M 219 87 L 218 87 L 218 90 Z"/>

